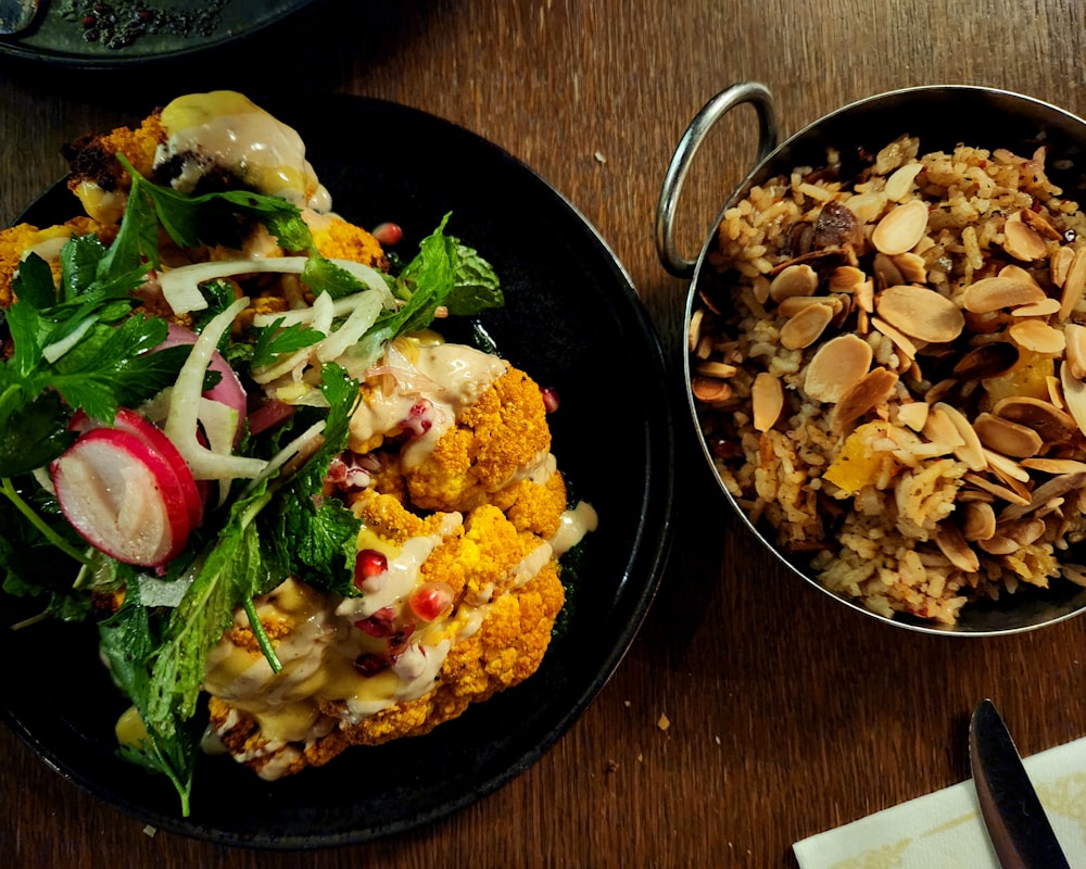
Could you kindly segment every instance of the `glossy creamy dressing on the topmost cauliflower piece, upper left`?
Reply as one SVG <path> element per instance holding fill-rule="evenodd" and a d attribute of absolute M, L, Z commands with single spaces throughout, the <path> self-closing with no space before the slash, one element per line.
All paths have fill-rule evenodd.
<path fill-rule="evenodd" d="M 179 97 L 162 110 L 162 125 L 168 138 L 155 164 L 181 158 L 181 174 L 174 180 L 178 190 L 191 191 L 209 169 L 222 166 L 257 192 L 300 209 L 331 210 L 331 197 L 305 159 L 302 138 L 241 93 Z"/>

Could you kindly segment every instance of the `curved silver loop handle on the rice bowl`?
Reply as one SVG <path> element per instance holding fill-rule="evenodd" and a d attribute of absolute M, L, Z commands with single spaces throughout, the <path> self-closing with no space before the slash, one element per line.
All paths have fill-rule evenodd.
<path fill-rule="evenodd" d="M 664 267 L 677 278 L 691 278 L 697 263 L 687 260 L 675 248 L 674 215 L 679 204 L 686 172 L 694 160 L 694 154 L 700 147 L 706 134 L 721 117 L 736 105 L 754 103 L 758 112 L 758 159 L 761 163 L 776 148 L 776 111 L 773 106 L 773 95 L 769 88 L 758 81 L 741 81 L 720 91 L 709 100 L 686 127 L 675 148 L 674 156 L 668 166 L 668 174 L 660 188 L 660 199 L 656 205 L 656 253 Z"/>

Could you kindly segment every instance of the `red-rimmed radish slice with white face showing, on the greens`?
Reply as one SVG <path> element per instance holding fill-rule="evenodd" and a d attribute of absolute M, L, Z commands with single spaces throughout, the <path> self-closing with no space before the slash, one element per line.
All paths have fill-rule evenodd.
<path fill-rule="evenodd" d="M 138 434 L 88 431 L 50 470 L 64 517 L 106 555 L 157 567 L 185 549 L 192 528 L 177 475 Z"/>

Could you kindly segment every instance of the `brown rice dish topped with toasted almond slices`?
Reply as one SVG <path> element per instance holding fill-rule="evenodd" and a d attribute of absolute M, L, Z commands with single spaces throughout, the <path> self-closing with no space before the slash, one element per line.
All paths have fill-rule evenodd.
<path fill-rule="evenodd" d="M 920 147 L 853 178 L 830 152 L 725 211 L 691 389 L 779 546 L 875 613 L 952 625 L 1086 577 L 1086 218 L 1044 148 Z"/>

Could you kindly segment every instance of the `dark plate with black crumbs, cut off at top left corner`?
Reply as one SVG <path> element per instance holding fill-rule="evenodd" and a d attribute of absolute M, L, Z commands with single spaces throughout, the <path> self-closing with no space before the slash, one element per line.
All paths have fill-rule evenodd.
<path fill-rule="evenodd" d="M 209 17 L 206 25 L 192 25 L 187 30 L 175 29 L 157 34 L 137 35 L 124 47 L 111 48 L 101 39 L 88 39 L 93 26 L 70 21 L 64 14 L 64 0 L 40 0 L 41 10 L 34 25 L 15 36 L 0 36 L 0 52 L 51 64 L 73 66 L 122 66 L 131 63 L 160 61 L 224 46 L 248 37 L 281 21 L 312 0 L 225 0 L 223 8 Z M 128 14 L 139 9 L 134 0 L 103 0 L 101 4 Z M 143 4 L 165 16 L 192 14 L 199 4 L 191 0 L 148 0 Z M 169 17 L 177 21 L 176 17 Z"/>

